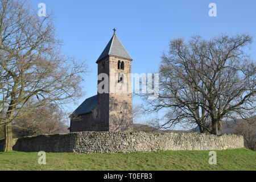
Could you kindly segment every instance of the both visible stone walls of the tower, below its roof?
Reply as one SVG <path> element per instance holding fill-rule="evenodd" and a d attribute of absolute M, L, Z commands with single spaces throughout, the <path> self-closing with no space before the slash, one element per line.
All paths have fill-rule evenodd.
<path fill-rule="evenodd" d="M 118 69 L 118 61 L 123 61 L 124 69 Z M 106 73 L 109 77 L 109 93 L 98 93 L 98 115 L 101 129 L 96 131 L 133 131 L 133 100 L 129 93 L 131 80 L 131 60 L 117 56 L 107 56 L 98 61 L 98 75 Z M 119 75 L 126 76 L 124 82 L 118 82 Z M 98 81 L 98 84 L 102 80 Z M 114 87 L 112 86 L 114 85 Z M 124 87 L 123 87 L 124 86 Z M 117 92 L 117 88 L 126 88 L 125 92 Z M 114 88 L 114 90 L 111 90 Z M 131 89 L 130 89 L 131 90 Z"/>

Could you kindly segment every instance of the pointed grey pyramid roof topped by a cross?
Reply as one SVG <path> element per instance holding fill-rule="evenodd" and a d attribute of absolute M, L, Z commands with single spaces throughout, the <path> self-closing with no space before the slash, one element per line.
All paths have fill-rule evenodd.
<path fill-rule="evenodd" d="M 105 47 L 104 51 L 101 53 L 100 57 L 98 57 L 97 61 L 103 59 L 108 55 L 118 56 L 118 57 L 123 57 L 125 59 L 133 60 L 129 55 L 129 53 L 126 51 L 125 47 L 123 47 L 123 44 L 117 38 L 117 35 L 115 35 L 115 29 L 114 29 L 114 35 L 110 39 L 108 45 Z"/>

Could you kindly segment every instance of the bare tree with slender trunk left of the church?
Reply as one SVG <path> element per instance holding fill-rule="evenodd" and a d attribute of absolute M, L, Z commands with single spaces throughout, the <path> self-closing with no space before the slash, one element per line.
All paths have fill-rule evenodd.
<path fill-rule="evenodd" d="M 37 107 L 81 96 L 84 65 L 61 54 L 52 15 L 39 17 L 26 0 L 0 1 L 0 125 L 11 151 L 11 123 Z M 26 107 L 28 100 L 34 105 Z"/>

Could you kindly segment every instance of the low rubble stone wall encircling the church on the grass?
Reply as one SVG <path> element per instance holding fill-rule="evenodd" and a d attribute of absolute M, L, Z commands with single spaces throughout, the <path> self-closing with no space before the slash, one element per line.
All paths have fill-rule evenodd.
<path fill-rule="evenodd" d="M 241 135 L 221 136 L 199 133 L 134 133 L 84 131 L 39 135 L 16 140 L 13 150 L 26 152 L 138 152 L 166 150 L 226 150 L 242 148 Z M 0 141 L 0 151 L 3 140 Z"/>

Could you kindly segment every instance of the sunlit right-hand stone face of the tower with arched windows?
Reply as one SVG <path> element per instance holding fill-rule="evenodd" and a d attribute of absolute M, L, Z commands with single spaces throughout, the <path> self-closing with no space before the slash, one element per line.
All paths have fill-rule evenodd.
<path fill-rule="evenodd" d="M 118 69 L 118 61 L 124 63 L 124 69 Z M 115 84 L 114 93 L 109 94 L 109 131 L 133 131 L 133 99 L 129 93 L 131 60 L 110 56 L 109 69 L 110 82 Z"/>

